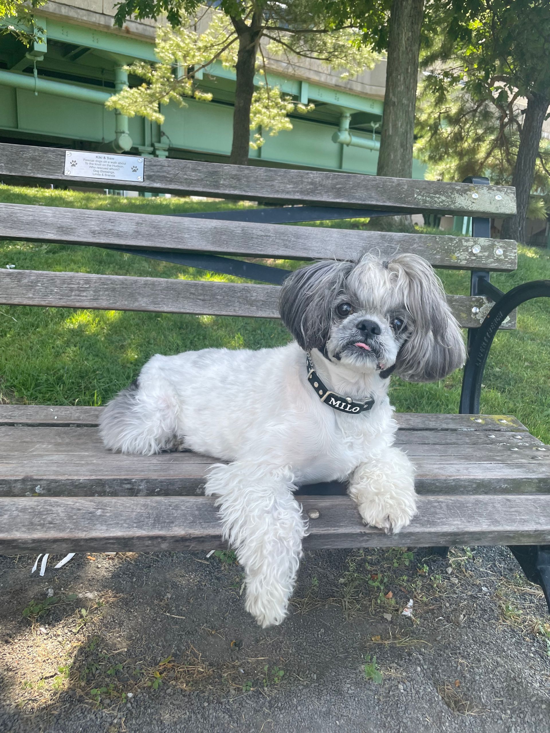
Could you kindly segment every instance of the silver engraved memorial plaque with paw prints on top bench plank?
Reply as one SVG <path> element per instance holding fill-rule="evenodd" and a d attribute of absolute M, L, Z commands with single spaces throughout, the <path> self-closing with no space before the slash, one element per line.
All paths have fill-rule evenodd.
<path fill-rule="evenodd" d="M 67 150 L 65 175 L 78 178 L 103 178 L 111 181 L 142 181 L 143 158 L 109 152 Z"/>

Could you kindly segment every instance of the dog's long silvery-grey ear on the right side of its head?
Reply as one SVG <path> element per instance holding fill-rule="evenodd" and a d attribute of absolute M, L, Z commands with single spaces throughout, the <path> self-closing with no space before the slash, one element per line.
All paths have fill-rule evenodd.
<path fill-rule="evenodd" d="M 388 263 L 405 295 L 411 328 L 397 356 L 395 373 L 409 382 L 434 382 L 462 367 L 466 350 L 441 281 L 428 262 L 400 254 Z"/>

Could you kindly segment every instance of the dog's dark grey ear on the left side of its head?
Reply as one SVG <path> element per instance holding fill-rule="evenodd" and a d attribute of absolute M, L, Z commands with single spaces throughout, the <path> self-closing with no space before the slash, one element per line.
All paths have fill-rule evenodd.
<path fill-rule="evenodd" d="M 282 322 L 304 351 L 323 350 L 329 339 L 334 300 L 353 262 L 323 260 L 289 275 L 279 296 Z"/>

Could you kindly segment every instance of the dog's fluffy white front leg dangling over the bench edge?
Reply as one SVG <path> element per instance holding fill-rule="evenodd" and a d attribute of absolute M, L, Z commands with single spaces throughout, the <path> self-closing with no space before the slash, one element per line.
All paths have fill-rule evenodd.
<path fill-rule="evenodd" d="M 224 539 L 245 570 L 246 610 L 264 628 L 287 615 L 306 533 L 288 468 L 238 461 L 216 465 L 205 493 L 217 496 Z"/>

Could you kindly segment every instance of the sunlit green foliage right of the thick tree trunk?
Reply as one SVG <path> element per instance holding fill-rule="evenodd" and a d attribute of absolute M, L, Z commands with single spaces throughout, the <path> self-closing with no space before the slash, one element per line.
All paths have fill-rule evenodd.
<path fill-rule="evenodd" d="M 490 174 L 512 183 L 529 99 L 550 103 L 550 3 L 481 0 L 427 48 L 417 103 L 419 157 L 429 177 Z M 452 32 L 444 32 L 452 27 Z M 540 140 L 532 191 L 550 191 L 550 144 Z M 529 216 L 545 216 L 543 202 Z"/>

